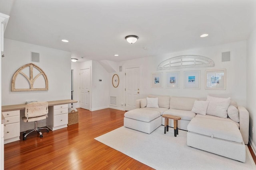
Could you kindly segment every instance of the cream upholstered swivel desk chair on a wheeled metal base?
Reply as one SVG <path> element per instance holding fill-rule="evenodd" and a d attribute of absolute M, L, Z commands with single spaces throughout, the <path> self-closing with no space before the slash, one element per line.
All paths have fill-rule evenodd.
<path fill-rule="evenodd" d="M 49 132 L 48 128 L 38 128 L 37 121 L 46 119 L 48 117 L 48 102 L 32 102 L 26 104 L 25 107 L 25 117 L 22 117 L 24 122 L 32 122 L 34 121 L 34 129 L 30 129 L 28 133 L 26 131 L 23 133 L 23 140 L 26 140 L 28 134 L 33 131 L 37 131 L 40 134 L 40 137 L 43 137 L 40 129 L 46 129 Z"/>

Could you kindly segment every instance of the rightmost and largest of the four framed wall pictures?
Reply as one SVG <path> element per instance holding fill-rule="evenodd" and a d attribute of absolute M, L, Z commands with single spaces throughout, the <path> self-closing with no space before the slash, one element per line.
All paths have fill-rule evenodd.
<path fill-rule="evenodd" d="M 205 70 L 205 89 L 226 90 L 226 69 Z"/>

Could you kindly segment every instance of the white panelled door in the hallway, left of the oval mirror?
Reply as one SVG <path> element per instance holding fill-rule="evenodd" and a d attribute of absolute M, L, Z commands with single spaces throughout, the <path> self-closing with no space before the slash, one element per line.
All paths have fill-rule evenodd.
<path fill-rule="evenodd" d="M 80 107 L 90 109 L 90 68 L 80 70 Z"/>

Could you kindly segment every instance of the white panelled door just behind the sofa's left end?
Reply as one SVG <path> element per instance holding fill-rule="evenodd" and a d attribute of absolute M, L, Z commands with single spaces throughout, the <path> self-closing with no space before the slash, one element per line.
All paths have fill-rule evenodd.
<path fill-rule="evenodd" d="M 125 69 L 125 110 L 136 108 L 140 96 L 140 67 Z"/>

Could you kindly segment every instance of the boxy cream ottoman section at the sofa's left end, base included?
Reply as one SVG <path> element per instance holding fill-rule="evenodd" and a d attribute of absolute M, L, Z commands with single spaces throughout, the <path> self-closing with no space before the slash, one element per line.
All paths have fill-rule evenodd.
<path fill-rule="evenodd" d="M 161 113 L 155 110 L 134 109 L 124 113 L 124 127 L 151 133 L 161 125 Z"/>

